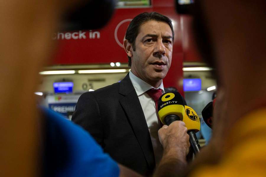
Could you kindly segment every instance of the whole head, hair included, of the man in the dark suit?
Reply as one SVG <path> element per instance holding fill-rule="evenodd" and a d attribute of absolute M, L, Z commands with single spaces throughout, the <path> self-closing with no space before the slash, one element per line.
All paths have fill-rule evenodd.
<path fill-rule="evenodd" d="M 132 73 L 154 85 L 171 65 L 174 32 L 171 20 L 156 12 L 137 15 L 126 31 L 124 48 Z"/>

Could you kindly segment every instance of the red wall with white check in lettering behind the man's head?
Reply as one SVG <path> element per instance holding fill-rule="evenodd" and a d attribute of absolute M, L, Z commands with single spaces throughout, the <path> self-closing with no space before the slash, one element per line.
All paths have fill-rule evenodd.
<path fill-rule="evenodd" d="M 131 19 L 142 12 L 154 11 L 169 17 L 173 21 L 175 32 L 172 65 L 164 79 L 164 85 L 166 87 L 174 86 L 183 94 L 181 83 L 183 60 L 186 56 L 190 56 L 191 52 L 186 50 L 184 53 L 184 44 L 189 45 L 190 43 L 182 40 L 182 36 L 189 36 L 189 31 L 186 30 L 188 27 L 184 27 L 188 24 L 186 23 L 187 19 L 182 19 L 181 24 L 172 0 L 154 0 L 149 8 L 116 9 L 111 21 L 100 30 L 55 33 L 52 37 L 54 40 L 58 40 L 58 50 L 52 64 L 127 63 L 123 40 Z M 187 39 L 191 40 L 189 37 Z M 186 47 L 186 49 L 190 48 Z M 186 57 L 186 60 L 195 61 L 195 56 L 192 52 L 191 57 Z"/>

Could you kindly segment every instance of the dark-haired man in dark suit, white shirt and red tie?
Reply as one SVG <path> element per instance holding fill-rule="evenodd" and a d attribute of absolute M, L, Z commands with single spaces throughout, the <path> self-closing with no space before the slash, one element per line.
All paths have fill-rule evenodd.
<path fill-rule="evenodd" d="M 173 40 L 168 17 L 137 15 L 124 41 L 131 71 L 120 83 L 82 94 L 72 116 L 114 160 L 142 175 L 153 173 L 163 152 L 156 105 L 165 92 Z"/>

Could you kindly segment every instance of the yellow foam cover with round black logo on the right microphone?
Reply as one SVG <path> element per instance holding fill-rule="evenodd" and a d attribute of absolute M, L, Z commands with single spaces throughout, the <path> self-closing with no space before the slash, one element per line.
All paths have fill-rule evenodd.
<path fill-rule="evenodd" d="M 200 131 L 200 118 L 198 114 L 189 106 L 185 105 L 185 114 L 183 122 L 186 124 L 187 130 Z"/>

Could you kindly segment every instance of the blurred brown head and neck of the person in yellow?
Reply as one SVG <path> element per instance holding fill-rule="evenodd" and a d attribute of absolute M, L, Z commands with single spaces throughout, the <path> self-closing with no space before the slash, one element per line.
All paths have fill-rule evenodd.
<path fill-rule="evenodd" d="M 194 13 L 200 53 L 217 68 L 219 88 L 234 107 L 227 116 L 234 121 L 265 102 L 265 0 L 195 1 Z"/>

